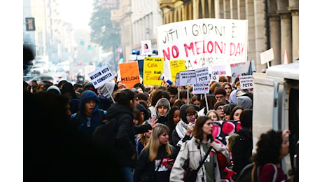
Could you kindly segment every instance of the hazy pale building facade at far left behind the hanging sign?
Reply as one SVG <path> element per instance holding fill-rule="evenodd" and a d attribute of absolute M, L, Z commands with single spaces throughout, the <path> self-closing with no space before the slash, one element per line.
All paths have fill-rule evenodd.
<path fill-rule="evenodd" d="M 72 60 L 76 55 L 73 29 L 70 23 L 59 20 L 57 7 L 57 0 L 24 0 L 23 6 L 24 44 L 51 62 Z M 27 31 L 26 18 L 34 18 L 34 31 Z"/>

